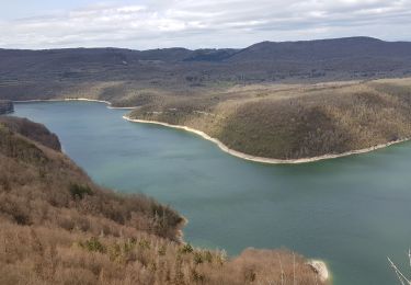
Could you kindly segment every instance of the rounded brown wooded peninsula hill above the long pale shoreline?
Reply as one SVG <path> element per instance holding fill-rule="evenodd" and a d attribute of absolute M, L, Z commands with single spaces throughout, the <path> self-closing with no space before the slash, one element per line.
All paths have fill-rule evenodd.
<path fill-rule="evenodd" d="M 132 118 L 185 125 L 229 148 L 275 159 L 339 155 L 411 137 L 411 79 L 246 86 L 175 98 Z"/>

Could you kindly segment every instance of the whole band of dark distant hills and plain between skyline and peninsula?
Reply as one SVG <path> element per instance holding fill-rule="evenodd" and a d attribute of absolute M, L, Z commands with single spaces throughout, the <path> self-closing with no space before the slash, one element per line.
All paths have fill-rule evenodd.
<path fill-rule="evenodd" d="M 153 95 L 187 94 L 198 88 L 239 83 L 324 82 L 410 75 L 411 43 L 372 37 L 262 42 L 242 49 L 0 49 L 0 100 L 95 93 L 100 99 L 118 101 L 126 93 L 136 96 L 133 90 L 145 90 L 141 100 L 146 102 L 152 89 L 156 89 Z M 107 89 L 109 81 L 112 83 Z"/>

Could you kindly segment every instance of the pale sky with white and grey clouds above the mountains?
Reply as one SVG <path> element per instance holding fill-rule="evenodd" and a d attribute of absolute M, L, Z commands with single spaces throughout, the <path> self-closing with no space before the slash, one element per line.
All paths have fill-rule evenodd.
<path fill-rule="evenodd" d="M 411 41 L 411 0 L 0 0 L 0 48 L 247 47 Z"/>

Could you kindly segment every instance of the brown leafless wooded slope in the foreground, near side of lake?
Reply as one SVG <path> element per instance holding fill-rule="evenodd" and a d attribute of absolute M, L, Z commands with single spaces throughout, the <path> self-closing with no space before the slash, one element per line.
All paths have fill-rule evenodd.
<path fill-rule="evenodd" d="M 286 250 L 230 260 L 182 243 L 180 215 L 95 185 L 47 132 L 0 122 L 0 284 L 322 284 Z"/>

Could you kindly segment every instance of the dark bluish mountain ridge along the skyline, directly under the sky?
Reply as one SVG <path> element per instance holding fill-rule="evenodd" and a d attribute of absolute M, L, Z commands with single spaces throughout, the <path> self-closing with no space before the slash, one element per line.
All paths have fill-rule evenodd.
<path fill-rule="evenodd" d="M 161 60 L 175 61 L 242 61 L 242 60 L 278 60 L 299 59 L 315 60 L 352 56 L 411 57 L 411 42 L 385 42 L 378 38 L 358 36 L 331 39 L 297 42 L 261 42 L 246 48 L 202 48 L 182 47 L 135 50 L 126 48 L 62 48 L 62 49 L 0 49 L 4 56 L 48 56 L 55 58 L 70 56 L 71 59 L 105 60 Z M 76 57 L 72 57 L 76 55 Z M 121 64 L 121 61 L 118 61 Z"/>

